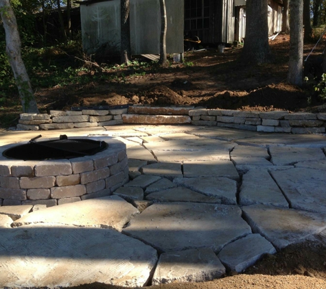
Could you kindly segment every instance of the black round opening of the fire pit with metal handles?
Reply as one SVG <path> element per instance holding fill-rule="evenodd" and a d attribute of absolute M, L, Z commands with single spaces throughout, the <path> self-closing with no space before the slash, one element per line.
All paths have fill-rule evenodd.
<path fill-rule="evenodd" d="M 94 155 L 108 147 L 106 142 L 86 138 L 68 139 L 67 136 L 60 136 L 58 140 L 39 142 L 35 141 L 36 138 L 27 144 L 7 149 L 2 155 L 15 160 L 61 160 Z"/>

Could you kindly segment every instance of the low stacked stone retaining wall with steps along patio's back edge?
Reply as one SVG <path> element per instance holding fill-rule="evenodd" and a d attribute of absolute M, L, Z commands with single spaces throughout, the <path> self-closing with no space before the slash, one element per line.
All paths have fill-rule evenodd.
<path fill-rule="evenodd" d="M 209 110 L 188 107 L 146 107 L 132 105 L 112 110 L 51 111 L 50 114 L 21 114 L 17 129 L 72 129 L 121 124 L 209 125 L 264 132 L 323 134 L 326 113 L 255 112 Z"/>

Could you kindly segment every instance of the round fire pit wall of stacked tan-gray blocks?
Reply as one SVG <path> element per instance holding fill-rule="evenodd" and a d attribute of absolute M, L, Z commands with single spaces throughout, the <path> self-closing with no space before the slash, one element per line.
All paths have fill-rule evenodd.
<path fill-rule="evenodd" d="M 129 180 L 126 145 L 108 137 L 89 139 L 105 141 L 108 148 L 69 160 L 23 161 L 2 153 L 26 142 L 0 147 L 0 205 L 51 207 L 113 194 Z"/>

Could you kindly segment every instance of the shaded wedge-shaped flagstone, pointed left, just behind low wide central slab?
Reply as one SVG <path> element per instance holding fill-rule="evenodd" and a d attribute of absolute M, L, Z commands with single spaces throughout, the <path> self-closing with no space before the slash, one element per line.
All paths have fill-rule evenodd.
<path fill-rule="evenodd" d="M 196 192 L 216 197 L 226 205 L 237 204 L 237 182 L 226 177 L 178 178 L 173 182 Z"/>

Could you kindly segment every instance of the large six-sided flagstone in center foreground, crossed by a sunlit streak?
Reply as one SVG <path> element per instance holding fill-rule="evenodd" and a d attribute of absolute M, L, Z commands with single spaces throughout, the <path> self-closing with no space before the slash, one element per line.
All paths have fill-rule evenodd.
<path fill-rule="evenodd" d="M 235 205 L 154 203 L 123 232 L 161 252 L 204 247 L 219 252 L 229 242 L 251 234 L 241 215 Z"/>

